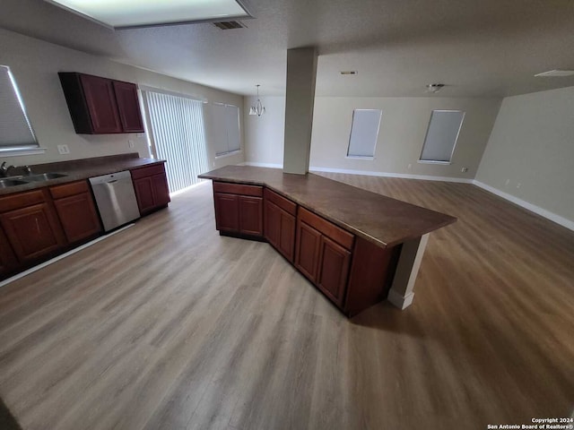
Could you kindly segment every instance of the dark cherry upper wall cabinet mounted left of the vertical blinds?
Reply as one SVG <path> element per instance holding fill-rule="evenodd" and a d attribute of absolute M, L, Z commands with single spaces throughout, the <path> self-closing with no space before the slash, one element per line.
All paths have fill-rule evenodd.
<path fill-rule="evenodd" d="M 75 133 L 143 133 L 134 83 L 83 73 L 58 73 Z"/>

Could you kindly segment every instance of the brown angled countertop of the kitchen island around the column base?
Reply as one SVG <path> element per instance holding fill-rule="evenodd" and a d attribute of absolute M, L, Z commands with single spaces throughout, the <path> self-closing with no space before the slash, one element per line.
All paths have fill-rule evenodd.
<path fill-rule="evenodd" d="M 401 244 L 457 220 L 444 213 L 312 173 L 293 175 L 277 168 L 226 166 L 199 177 L 237 184 L 264 185 L 339 227 L 383 247 Z"/>

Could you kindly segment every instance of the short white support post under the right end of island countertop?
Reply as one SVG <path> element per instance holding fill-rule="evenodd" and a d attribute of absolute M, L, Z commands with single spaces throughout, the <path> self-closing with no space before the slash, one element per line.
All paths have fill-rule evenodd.
<path fill-rule="evenodd" d="M 401 255 L 396 264 L 393 286 L 387 297 L 387 300 L 399 309 L 404 309 L 413 303 L 414 282 L 419 273 L 422 255 L 428 241 L 429 233 L 403 244 Z"/>

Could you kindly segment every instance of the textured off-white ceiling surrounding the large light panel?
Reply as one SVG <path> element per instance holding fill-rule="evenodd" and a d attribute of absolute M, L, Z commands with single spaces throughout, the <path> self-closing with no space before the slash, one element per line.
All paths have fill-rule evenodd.
<path fill-rule="evenodd" d="M 286 50 L 316 46 L 317 95 L 504 97 L 574 85 L 572 0 L 249 0 L 248 28 L 109 30 L 42 0 L 3 0 L 0 27 L 214 88 L 283 95 Z M 356 76 L 339 71 L 356 70 Z M 430 96 L 436 97 L 436 96 Z"/>

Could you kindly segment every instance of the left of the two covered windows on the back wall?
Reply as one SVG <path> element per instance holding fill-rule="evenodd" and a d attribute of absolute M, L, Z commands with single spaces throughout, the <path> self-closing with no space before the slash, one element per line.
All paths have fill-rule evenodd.
<path fill-rule="evenodd" d="M 352 112 L 351 137 L 347 157 L 372 159 L 375 157 L 378 127 L 382 111 L 378 109 L 355 109 Z"/>

